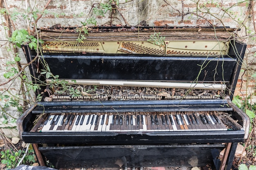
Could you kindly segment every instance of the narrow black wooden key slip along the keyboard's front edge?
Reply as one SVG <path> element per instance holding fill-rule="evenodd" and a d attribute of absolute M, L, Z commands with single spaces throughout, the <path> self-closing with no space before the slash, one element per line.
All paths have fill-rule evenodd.
<path fill-rule="evenodd" d="M 116 133 L 116 132 L 23 132 L 26 143 L 37 144 L 202 144 L 242 142 L 243 130 L 213 132 L 149 132 L 149 133 Z"/>

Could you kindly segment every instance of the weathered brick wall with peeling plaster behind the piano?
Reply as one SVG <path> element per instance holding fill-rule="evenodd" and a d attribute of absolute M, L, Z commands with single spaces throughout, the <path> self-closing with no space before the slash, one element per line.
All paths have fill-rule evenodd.
<path fill-rule="evenodd" d="M 16 29 L 27 28 L 27 23 L 32 29 L 34 20 L 26 20 L 24 15 L 26 9 L 31 7 L 34 9 L 35 14 L 40 15 L 43 8 L 47 4 L 47 0 L 5 0 L 6 4 L 2 1 L 2 7 L 8 7 L 13 19 L 13 23 Z M 92 17 L 92 6 L 99 6 L 99 3 L 108 2 L 108 0 L 52 0 L 46 8 L 42 18 L 38 20 L 37 27 L 47 27 L 54 24 L 61 24 L 65 26 L 81 26 L 81 22 L 84 22 L 86 18 Z M 256 52 L 255 41 L 249 38 L 247 35 L 252 35 L 248 31 L 251 29 L 255 31 L 255 20 L 253 17 L 254 11 L 256 11 L 255 5 L 251 8 L 247 2 L 239 3 L 237 0 L 199 0 L 198 3 L 195 0 L 119 0 L 119 11 L 124 15 L 124 18 L 130 25 L 136 25 L 141 20 L 146 20 L 150 26 L 155 25 L 169 25 L 169 26 L 229 26 L 231 28 L 241 28 L 237 34 L 243 42 L 248 44 L 245 60 L 243 63 L 243 71 L 240 74 L 238 85 L 235 95 L 247 96 L 255 92 L 255 79 L 250 78 L 256 70 L 256 60 L 254 53 Z M 210 2 L 210 3 L 209 3 Z M 248 1 L 249 2 L 249 1 Z M 253 3 L 253 2 L 252 2 Z M 212 13 L 212 15 L 207 14 Z M 200 12 L 201 11 L 201 12 Z M 228 11 L 224 13 L 224 11 Z M 17 15 L 15 15 L 17 14 Z M 31 14 L 29 14 L 29 18 Z M 245 20 L 245 27 L 240 26 L 239 22 Z M 2 15 L 3 25 L 7 26 Z M 122 24 L 125 25 L 124 19 L 119 12 L 115 10 L 115 13 L 110 15 L 107 12 L 104 17 L 97 18 L 97 24 Z M 13 60 L 13 54 L 6 47 L 6 31 L 4 27 L 0 26 L 0 84 L 6 82 L 2 75 L 6 70 L 5 63 Z M 24 55 L 22 57 L 21 64 L 25 65 L 26 60 Z M 249 66 L 249 68 L 248 68 Z M 249 72 L 247 71 L 249 70 Z M 248 79 L 249 77 L 249 79 Z M 9 84 L 0 86 L 0 91 L 4 91 Z M 249 88 L 247 88 L 249 87 Z M 13 94 L 18 95 L 20 90 L 20 82 L 16 80 L 11 85 Z M 20 102 L 22 103 L 22 96 L 20 96 Z M 255 102 L 256 100 L 254 100 Z M 1 103 L 2 105 L 3 103 Z M 10 109 L 11 110 L 11 109 Z M 20 113 L 15 110 L 10 111 L 14 117 L 18 117 Z"/>

